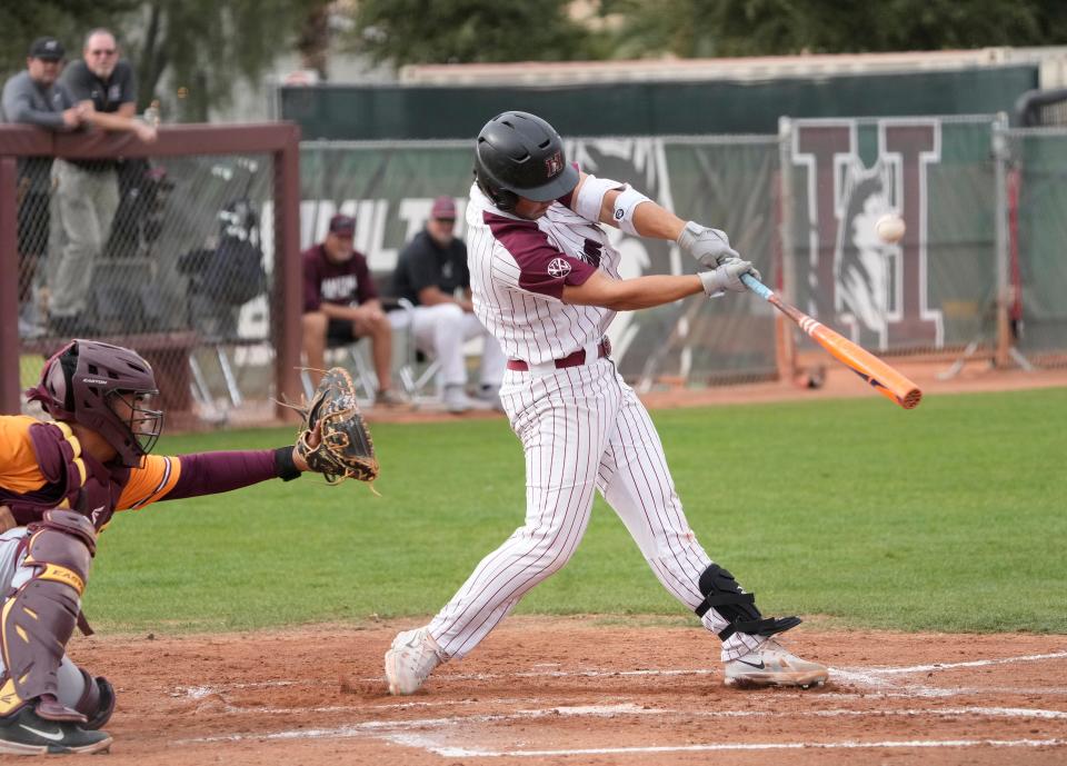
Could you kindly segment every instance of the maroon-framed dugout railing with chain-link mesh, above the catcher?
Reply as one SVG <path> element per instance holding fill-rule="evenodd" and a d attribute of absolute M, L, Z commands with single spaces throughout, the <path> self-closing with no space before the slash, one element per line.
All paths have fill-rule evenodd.
<path fill-rule="evenodd" d="M 108 170 L 119 206 L 72 322 L 50 316 L 50 283 L 70 240 L 54 215 L 54 181 L 28 180 L 34 158 L 119 160 Z M 287 417 L 268 402 L 300 394 L 298 177 L 299 128 L 288 122 L 168 126 L 150 145 L 0 126 L 0 354 L 9 360 L 0 409 L 20 410 L 22 389 L 73 332 L 142 352 L 172 421 L 203 416 L 208 376 L 193 374 L 223 345 L 255 361 L 260 416 Z"/>

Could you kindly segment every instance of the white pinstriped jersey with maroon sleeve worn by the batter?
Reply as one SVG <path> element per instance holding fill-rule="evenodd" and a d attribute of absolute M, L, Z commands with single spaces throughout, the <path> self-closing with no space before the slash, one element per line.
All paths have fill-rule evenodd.
<path fill-rule="evenodd" d="M 475 314 L 511 359 L 561 359 L 599 342 L 615 318 L 609 309 L 561 300 L 564 285 L 582 285 L 598 269 L 619 278 L 618 250 L 569 201 L 568 195 L 528 221 L 471 186 L 467 260 Z"/>

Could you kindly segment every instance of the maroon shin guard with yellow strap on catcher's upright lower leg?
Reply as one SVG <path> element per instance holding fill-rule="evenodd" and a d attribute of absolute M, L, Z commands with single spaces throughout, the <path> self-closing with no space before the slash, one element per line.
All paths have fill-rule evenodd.
<path fill-rule="evenodd" d="M 96 553 L 96 530 L 84 516 L 50 510 L 31 527 L 22 566 L 36 568 L 0 614 L 0 650 L 6 679 L 0 716 L 36 700 L 50 720 L 84 723 L 86 716 L 61 705 L 58 669 L 81 610 L 81 594 Z"/>

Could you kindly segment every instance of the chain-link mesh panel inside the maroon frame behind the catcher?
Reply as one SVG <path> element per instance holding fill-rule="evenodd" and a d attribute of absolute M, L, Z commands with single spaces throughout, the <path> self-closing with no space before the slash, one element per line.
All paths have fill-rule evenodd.
<path fill-rule="evenodd" d="M 240 132 L 176 129 L 141 157 L 90 148 L 18 158 L 14 193 L 0 189 L 17 220 L 16 268 L 6 256 L 0 265 L 17 280 L 18 390 L 71 338 L 88 338 L 148 359 L 178 420 L 219 419 L 246 401 L 270 417 L 285 327 L 273 273 L 283 152 L 270 145 L 286 129 L 252 136 L 248 152 L 233 151 Z M 295 193 L 288 202 L 295 228 Z M 293 260 L 296 245 L 293 236 Z M 299 327 L 298 312 L 288 327 Z"/>

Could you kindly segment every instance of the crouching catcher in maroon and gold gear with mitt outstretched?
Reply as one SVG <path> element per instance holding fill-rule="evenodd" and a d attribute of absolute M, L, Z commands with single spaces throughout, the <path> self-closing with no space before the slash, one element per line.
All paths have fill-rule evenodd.
<path fill-rule="evenodd" d="M 302 471 L 373 478 L 351 381 L 331 370 L 299 445 L 152 455 L 163 411 L 134 351 L 73 340 L 27 391 L 52 420 L 0 416 L 0 754 L 101 753 L 116 692 L 67 656 L 97 538 L 116 511 L 226 493 Z M 365 456 L 359 461 L 352 456 Z"/>

